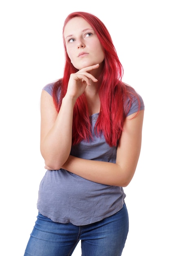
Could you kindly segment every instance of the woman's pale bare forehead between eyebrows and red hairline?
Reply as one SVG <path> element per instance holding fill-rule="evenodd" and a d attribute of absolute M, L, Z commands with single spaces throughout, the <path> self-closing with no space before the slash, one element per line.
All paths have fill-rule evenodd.
<path fill-rule="evenodd" d="M 74 17 L 69 20 L 64 28 L 64 37 L 73 35 L 84 29 L 92 29 L 91 25 L 81 17 Z"/>

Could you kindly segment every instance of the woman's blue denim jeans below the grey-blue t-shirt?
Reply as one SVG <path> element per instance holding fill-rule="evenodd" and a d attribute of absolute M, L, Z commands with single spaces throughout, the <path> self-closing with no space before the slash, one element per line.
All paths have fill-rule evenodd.
<path fill-rule="evenodd" d="M 38 214 L 24 256 L 70 256 L 81 240 L 82 256 L 121 256 L 128 234 L 126 204 L 113 216 L 84 226 Z"/>

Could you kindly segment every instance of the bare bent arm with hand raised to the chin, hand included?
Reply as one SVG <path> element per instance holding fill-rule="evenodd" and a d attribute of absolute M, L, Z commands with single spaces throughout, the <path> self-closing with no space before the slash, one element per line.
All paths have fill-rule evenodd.
<path fill-rule="evenodd" d="M 99 64 L 84 67 L 70 75 L 67 92 L 57 114 L 53 98 L 46 91 L 41 95 L 41 138 L 40 150 L 46 166 L 58 170 L 70 155 L 72 143 L 73 108 L 77 98 L 82 95 L 90 80 L 97 79 L 89 73 Z"/>

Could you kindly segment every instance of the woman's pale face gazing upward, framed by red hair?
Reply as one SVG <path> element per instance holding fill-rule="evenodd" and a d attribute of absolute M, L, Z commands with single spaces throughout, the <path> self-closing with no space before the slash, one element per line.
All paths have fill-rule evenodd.
<path fill-rule="evenodd" d="M 103 62 L 103 47 L 84 18 L 75 17 L 68 21 L 64 29 L 64 39 L 71 63 L 78 70 Z"/>

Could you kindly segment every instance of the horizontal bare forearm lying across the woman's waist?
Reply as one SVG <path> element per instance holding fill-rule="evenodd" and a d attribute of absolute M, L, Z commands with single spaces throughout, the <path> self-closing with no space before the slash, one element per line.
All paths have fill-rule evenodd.
<path fill-rule="evenodd" d="M 119 164 L 69 156 L 62 168 L 87 180 L 112 186 L 127 186 L 135 173 Z"/>

